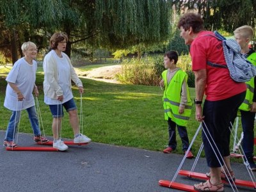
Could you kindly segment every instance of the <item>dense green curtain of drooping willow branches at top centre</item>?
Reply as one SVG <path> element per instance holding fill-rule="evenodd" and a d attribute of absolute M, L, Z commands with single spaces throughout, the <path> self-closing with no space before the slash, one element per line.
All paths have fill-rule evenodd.
<path fill-rule="evenodd" d="M 166 41 L 170 34 L 170 8 L 165 0 L 96 0 L 95 27 L 100 29 L 100 44 L 125 49 Z M 139 55 L 140 52 L 138 49 Z"/>

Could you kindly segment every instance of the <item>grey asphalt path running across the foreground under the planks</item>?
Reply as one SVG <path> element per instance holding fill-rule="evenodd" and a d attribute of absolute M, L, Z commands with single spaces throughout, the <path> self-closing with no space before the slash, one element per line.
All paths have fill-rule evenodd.
<path fill-rule="evenodd" d="M 4 139 L 0 131 L 0 140 Z M 1 143 L 1 142 L 0 142 Z M 19 146 L 36 146 L 31 134 L 19 134 Z M 40 146 L 38 146 L 40 147 Z M 0 191 L 178 191 L 158 185 L 172 180 L 182 156 L 102 143 L 69 147 L 67 152 L 0 150 Z M 182 167 L 190 170 L 194 160 Z M 249 179 L 243 164 L 233 163 L 237 179 Z M 204 158 L 196 172 L 207 172 Z M 175 182 L 201 182 L 179 176 Z M 237 188 L 239 191 L 253 191 Z M 232 188 L 225 186 L 225 191 Z"/>

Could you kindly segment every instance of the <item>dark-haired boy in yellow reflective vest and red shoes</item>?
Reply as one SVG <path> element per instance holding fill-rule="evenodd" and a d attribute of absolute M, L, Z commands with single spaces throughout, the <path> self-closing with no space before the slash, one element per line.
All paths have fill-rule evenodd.
<path fill-rule="evenodd" d="M 168 51 L 164 54 L 163 79 L 160 86 L 164 87 L 164 118 L 168 121 L 169 141 L 168 147 L 163 150 L 170 154 L 177 147 L 176 126 L 182 140 L 182 150 L 188 150 L 189 139 L 186 125 L 191 115 L 192 101 L 188 90 L 188 74 L 176 66 L 178 54 L 175 51 Z M 188 159 L 193 158 L 191 151 L 188 152 Z"/>

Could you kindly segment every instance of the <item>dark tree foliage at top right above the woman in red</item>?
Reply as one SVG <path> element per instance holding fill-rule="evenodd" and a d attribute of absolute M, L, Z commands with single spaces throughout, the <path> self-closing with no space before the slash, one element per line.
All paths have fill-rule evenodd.
<path fill-rule="evenodd" d="M 205 28 L 224 29 L 232 33 L 239 26 L 255 28 L 255 0 L 173 0 L 179 13 L 195 10 L 204 17 Z"/>

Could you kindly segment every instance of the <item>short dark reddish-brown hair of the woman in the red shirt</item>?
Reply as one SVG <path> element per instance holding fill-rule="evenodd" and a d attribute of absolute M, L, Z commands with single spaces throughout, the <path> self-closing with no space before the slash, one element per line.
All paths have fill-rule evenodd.
<path fill-rule="evenodd" d="M 198 13 L 185 13 L 180 17 L 177 27 L 182 27 L 185 31 L 191 27 L 194 33 L 199 33 L 204 30 L 204 20 Z"/>

